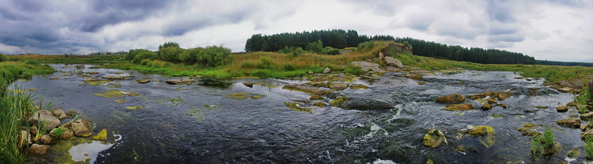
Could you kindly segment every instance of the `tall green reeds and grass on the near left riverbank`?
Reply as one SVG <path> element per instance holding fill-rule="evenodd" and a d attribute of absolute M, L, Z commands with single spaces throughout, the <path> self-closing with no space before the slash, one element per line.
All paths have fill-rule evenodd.
<path fill-rule="evenodd" d="M 19 78 L 30 78 L 33 74 L 50 72 L 53 72 L 51 67 L 31 62 L 0 63 L 0 163 L 24 161 L 18 133 L 22 126 L 27 126 L 25 120 L 35 110 L 33 95 L 21 92 L 22 89 L 12 82 Z"/>

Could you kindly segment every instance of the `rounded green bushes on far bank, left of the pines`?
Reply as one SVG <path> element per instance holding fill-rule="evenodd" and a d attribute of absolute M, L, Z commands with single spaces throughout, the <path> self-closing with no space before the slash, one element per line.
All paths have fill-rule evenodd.
<path fill-rule="evenodd" d="M 222 46 L 181 49 L 176 42 L 165 42 L 158 46 L 156 52 L 148 49 L 130 49 L 124 59 L 141 65 L 147 65 L 152 60 L 163 60 L 170 63 L 217 67 L 230 63 L 232 56 L 231 50 Z"/>

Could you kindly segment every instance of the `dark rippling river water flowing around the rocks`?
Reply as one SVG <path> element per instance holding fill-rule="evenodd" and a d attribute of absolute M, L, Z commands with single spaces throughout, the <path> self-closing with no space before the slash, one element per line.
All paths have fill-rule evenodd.
<path fill-rule="evenodd" d="M 84 69 L 52 67 L 60 72 L 19 83 L 25 89 L 37 89 L 33 92 L 45 99 L 52 97 L 54 104 L 64 110 L 83 113 L 94 123 L 95 134 L 107 129 L 110 140 L 117 139 L 98 154 L 96 163 L 426 163 L 428 158 L 437 163 L 559 163 L 569 150 L 583 151 L 580 130 L 555 124 L 578 114 L 576 108 L 567 113 L 555 111 L 556 106 L 572 101 L 572 95 L 543 86 L 541 79 L 515 79 L 518 74 L 513 72 L 426 74 L 419 81 L 405 79 L 401 73 L 387 73 L 375 80 L 356 79 L 348 83 L 370 88 L 339 92 L 382 99 L 396 104 L 395 108 L 361 111 L 310 106 L 309 113 L 291 110 L 284 102 L 308 100 L 310 95 L 278 87 L 307 82 L 304 80 L 197 79 L 195 83 L 169 85 L 164 81 L 174 78 L 155 74 L 90 69 L 91 65 Z M 89 85 L 82 82 L 82 76 L 63 76 L 81 71 L 98 72 L 91 76 L 99 77 L 135 77 Z M 52 76 L 61 78 L 50 80 Z M 151 82 L 139 84 L 134 79 Z M 253 88 L 242 84 L 248 81 L 256 83 Z M 419 85 L 420 81 L 426 85 Z M 530 93 L 534 88 L 539 89 Z M 107 90 L 139 95 L 93 95 Z M 486 90 L 509 91 L 512 97 L 500 101 L 509 108 L 495 106 L 491 110 L 456 112 L 440 110 L 446 104 L 434 101 L 444 95 L 473 95 Z M 233 93 L 265 97 L 225 97 Z M 117 99 L 126 101 L 118 103 L 114 101 Z M 322 101 L 329 104 L 331 99 Z M 481 106 L 477 101 L 467 102 L 476 108 Z M 132 106 L 142 108 L 126 108 Z M 552 126 L 563 151 L 550 158 L 530 155 L 530 138 L 516 131 L 527 123 L 539 126 L 539 132 L 543 126 Z M 487 148 L 480 138 L 460 135 L 458 131 L 468 124 L 493 126 L 495 144 Z M 429 129 L 442 131 L 447 144 L 425 147 L 422 140 Z M 112 138 L 112 134 L 118 136 Z M 465 152 L 456 151 L 458 146 L 464 147 Z M 54 160 L 52 154 L 44 158 L 50 163 Z M 578 158 L 573 163 L 582 161 Z"/>

